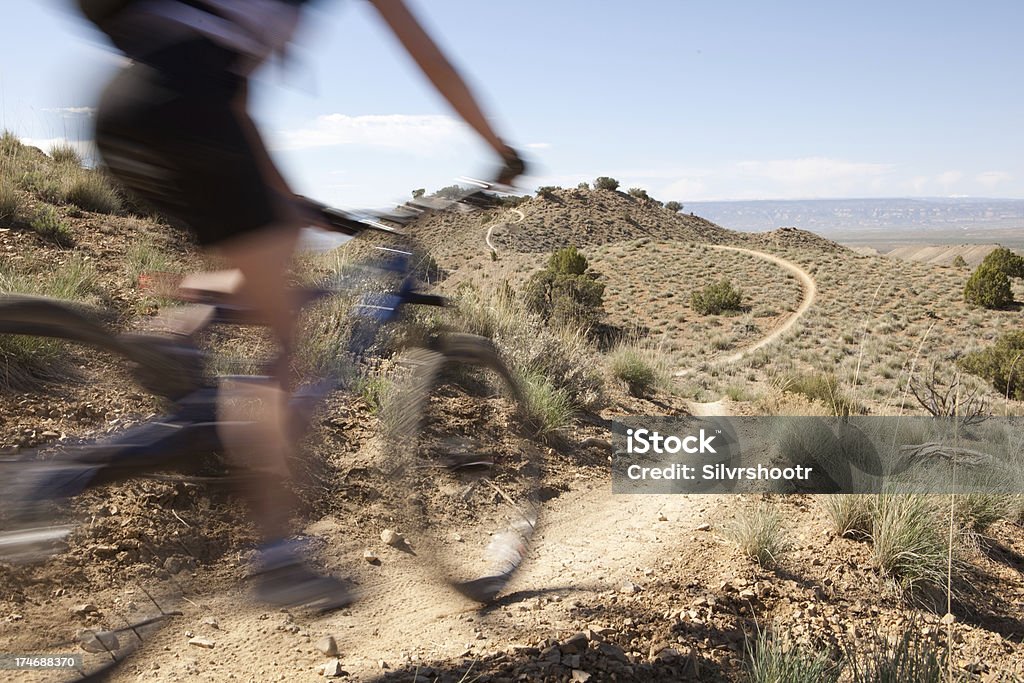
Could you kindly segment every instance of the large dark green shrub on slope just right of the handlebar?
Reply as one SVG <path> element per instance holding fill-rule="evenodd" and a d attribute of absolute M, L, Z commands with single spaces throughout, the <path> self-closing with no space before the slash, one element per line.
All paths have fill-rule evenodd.
<path fill-rule="evenodd" d="M 574 247 L 559 250 L 526 284 L 525 302 L 545 322 L 591 326 L 604 315 L 604 285 Z"/>

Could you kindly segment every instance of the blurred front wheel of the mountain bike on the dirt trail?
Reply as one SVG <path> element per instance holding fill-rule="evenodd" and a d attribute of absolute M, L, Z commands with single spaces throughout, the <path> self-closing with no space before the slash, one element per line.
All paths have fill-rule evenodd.
<path fill-rule="evenodd" d="M 382 413 L 383 469 L 402 503 L 394 543 L 462 594 L 489 602 L 525 559 L 540 517 L 543 454 L 523 393 L 482 337 L 452 335 L 399 359 Z"/>

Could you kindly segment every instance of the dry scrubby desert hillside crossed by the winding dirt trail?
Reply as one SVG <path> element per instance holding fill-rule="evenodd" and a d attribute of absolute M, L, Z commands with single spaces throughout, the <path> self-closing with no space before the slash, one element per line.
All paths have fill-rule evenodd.
<path fill-rule="evenodd" d="M 137 215 L 77 160 L 3 144 L 0 293 L 72 298 L 112 308 L 118 329 L 145 327 L 171 302 L 141 288 L 138 274 L 203 267 L 181 232 Z M 114 200 L 89 201 L 96 197 Z M 294 462 L 302 498 L 294 528 L 318 566 L 351 581 L 358 602 L 328 614 L 253 602 L 245 577 L 256 532 L 229 492 L 133 481 L 78 500 L 83 524 L 48 564 L 0 563 L 0 652 L 117 628 L 144 601 L 140 587 L 156 586 L 181 613 L 115 681 L 312 681 L 328 666 L 361 682 L 739 682 L 757 680 L 752 651 L 820 655 L 845 663 L 849 677 L 872 656 L 910 650 L 943 657 L 956 680 L 1024 680 L 1019 497 L 957 499 L 950 516 L 952 502 L 932 505 L 934 497 L 894 497 L 916 506 L 899 508 L 876 497 L 608 493 L 609 425 L 625 416 L 830 415 L 829 398 L 873 415 L 923 413 L 905 391 L 914 368 L 948 373 L 958 353 L 1020 327 L 1017 309 L 963 303 L 966 269 L 858 256 L 797 228 L 738 233 L 609 190 L 559 189 L 515 207 L 429 215 L 411 231 L 456 305 L 414 316 L 399 341 L 442 327 L 489 336 L 529 389 L 531 410 L 547 411 L 543 437 L 512 438 L 505 432 L 515 416 L 476 376 L 453 378 L 436 401 L 452 411 L 441 427 L 498 433 L 513 465 L 517 449 L 545 454 L 537 541 L 509 590 L 479 608 L 440 585 L 414 554 L 415 538 L 413 553 L 382 541 L 383 529 L 407 531 L 402 511 L 421 504 L 383 477 L 393 458 L 380 435 L 381 401 L 394 386 L 386 357 L 360 369 L 353 392 L 331 397 Z M 545 325 L 519 304 L 551 250 L 569 245 L 605 286 L 603 324 L 624 333 L 617 345 Z M 296 278 L 335 279 L 366 247 L 356 239 L 306 255 Z M 698 312 L 693 295 L 721 280 L 740 290 L 740 308 Z M 341 293 L 337 305 L 304 318 L 304 362 L 337 367 L 348 303 Z M 245 332 L 208 341 L 243 370 L 265 348 Z M 7 455 L 117 433 L 161 409 L 123 368 L 88 349 L 0 339 L 0 356 Z M 965 381 L 992 412 L 1021 410 Z M 495 485 L 451 495 L 498 501 L 504 484 Z M 465 539 L 481 530 L 458 504 L 452 510 L 445 543 L 464 553 Z M 899 526 L 901 515 L 915 525 Z M 843 526 L 851 519 L 859 526 Z M 963 591 L 946 616 L 950 528 L 951 581 Z M 319 646 L 327 636 L 337 653 Z"/>

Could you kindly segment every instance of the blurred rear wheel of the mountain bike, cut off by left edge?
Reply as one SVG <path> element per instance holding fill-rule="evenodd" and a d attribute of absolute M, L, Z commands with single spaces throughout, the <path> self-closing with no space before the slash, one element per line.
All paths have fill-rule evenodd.
<path fill-rule="evenodd" d="M 78 496 L 103 467 L 96 458 L 101 449 L 81 432 L 99 434 L 102 440 L 111 438 L 111 426 L 102 408 L 72 416 L 75 401 L 91 401 L 96 392 L 109 390 L 105 383 L 92 384 L 105 379 L 108 369 L 158 353 L 115 335 L 104 317 L 99 309 L 72 302 L 0 296 L 0 389 L 10 392 L 15 386 L 19 396 L 32 392 L 34 404 L 45 408 L 20 419 L 5 416 L 10 422 L 4 425 L 7 433 L 0 433 L 0 444 L 17 435 L 12 429 L 20 428 L 18 422 L 35 428 L 37 421 L 53 418 L 34 429 L 31 440 L 13 441 L 19 446 L 16 456 L 0 458 L 0 612 L 14 615 L 0 623 L 0 655 L 65 665 L 9 670 L 16 672 L 11 674 L 16 680 L 105 680 L 176 613 L 181 594 L 167 571 L 142 561 L 155 554 L 144 532 L 118 523 L 130 518 L 124 510 L 105 497 Z M 76 372 L 80 356 L 66 362 L 69 351 L 51 340 L 99 349 L 116 359 L 86 378 Z M 135 394 L 123 387 L 117 391 Z M 71 437 L 61 433 L 65 428 Z M 108 535 L 112 528 L 124 530 Z M 138 538 L 131 538 L 136 531 Z M 67 666 L 60 655 L 76 659 Z"/>

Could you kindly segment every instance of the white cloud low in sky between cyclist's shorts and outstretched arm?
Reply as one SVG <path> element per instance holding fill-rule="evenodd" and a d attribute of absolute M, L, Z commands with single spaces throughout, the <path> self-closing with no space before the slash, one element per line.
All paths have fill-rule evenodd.
<path fill-rule="evenodd" d="M 310 150 L 339 145 L 402 148 L 432 154 L 468 138 L 468 128 L 447 116 L 327 114 L 292 130 L 270 135 L 274 150 Z"/>

